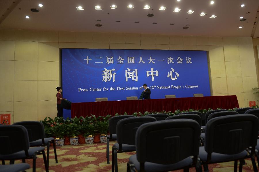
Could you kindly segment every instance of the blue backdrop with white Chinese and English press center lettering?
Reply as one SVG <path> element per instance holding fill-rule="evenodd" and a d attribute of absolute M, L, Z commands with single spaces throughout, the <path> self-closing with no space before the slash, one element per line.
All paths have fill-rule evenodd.
<path fill-rule="evenodd" d="M 139 97 L 144 83 L 151 89 L 151 99 L 170 94 L 210 96 L 207 52 L 62 49 L 63 97 L 71 102 Z"/>

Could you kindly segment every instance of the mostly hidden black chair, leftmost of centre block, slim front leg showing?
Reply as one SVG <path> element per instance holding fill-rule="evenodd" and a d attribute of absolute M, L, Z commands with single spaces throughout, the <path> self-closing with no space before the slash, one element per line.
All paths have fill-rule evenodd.
<path fill-rule="evenodd" d="M 106 143 L 106 158 L 107 164 L 110 164 L 110 140 L 117 140 L 117 123 L 125 118 L 132 118 L 135 117 L 133 115 L 119 115 L 113 116 L 109 119 L 109 133 L 110 135 L 107 136 L 107 143 Z"/>

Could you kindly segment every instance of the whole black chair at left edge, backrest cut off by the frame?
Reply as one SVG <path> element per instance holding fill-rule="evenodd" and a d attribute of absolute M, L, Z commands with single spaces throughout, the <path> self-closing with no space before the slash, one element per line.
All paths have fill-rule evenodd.
<path fill-rule="evenodd" d="M 48 172 L 48 164 L 45 156 L 44 147 L 31 147 L 29 143 L 28 131 L 21 125 L 1 125 L 0 126 L 0 160 L 4 165 L 5 160 L 33 159 L 33 172 L 36 171 L 36 155 L 42 154 L 45 170 Z"/>

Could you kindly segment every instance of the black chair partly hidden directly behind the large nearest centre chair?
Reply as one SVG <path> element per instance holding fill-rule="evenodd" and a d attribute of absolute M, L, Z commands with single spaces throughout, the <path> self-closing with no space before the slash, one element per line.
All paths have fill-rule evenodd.
<path fill-rule="evenodd" d="M 112 172 L 118 172 L 117 153 L 136 150 L 135 135 L 139 126 L 157 121 L 151 116 L 122 119 L 117 123 L 117 143 L 112 149 Z"/>

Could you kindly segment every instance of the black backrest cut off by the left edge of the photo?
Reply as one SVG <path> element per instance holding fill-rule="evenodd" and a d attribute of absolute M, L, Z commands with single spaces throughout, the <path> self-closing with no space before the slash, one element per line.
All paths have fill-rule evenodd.
<path fill-rule="evenodd" d="M 13 154 L 24 150 L 28 156 L 30 148 L 27 129 L 21 125 L 0 126 L 0 154 Z"/>

